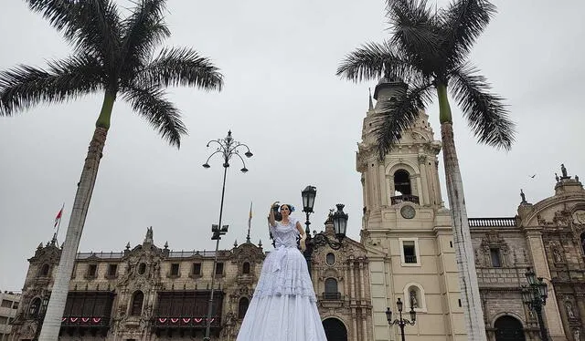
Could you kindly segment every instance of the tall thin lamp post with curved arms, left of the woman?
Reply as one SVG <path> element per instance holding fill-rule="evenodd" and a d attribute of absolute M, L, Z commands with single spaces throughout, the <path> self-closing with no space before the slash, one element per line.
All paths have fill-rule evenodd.
<path fill-rule="evenodd" d="M 211 293 L 209 294 L 209 304 L 207 307 L 207 319 L 206 319 L 206 328 L 205 328 L 205 337 L 203 338 L 205 341 L 211 340 L 209 337 L 209 332 L 211 329 L 211 315 L 213 314 L 213 292 L 214 292 L 214 285 L 216 279 L 216 267 L 218 265 L 218 250 L 219 250 L 219 240 L 221 240 L 221 236 L 228 233 L 228 225 L 221 224 L 221 217 L 223 214 L 223 199 L 224 194 L 226 192 L 226 175 L 228 174 L 229 168 L 229 160 L 235 155 L 241 160 L 243 168 L 239 171 L 245 173 L 248 171 L 246 168 L 246 162 L 244 159 L 239 155 L 239 150 L 246 149 L 244 155 L 247 158 L 252 157 L 252 153 L 250 152 L 250 148 L 247 145 L 240 143 L 239 141 L 234 140 L 231 137 L 231 130 L 228 131 L 228 136 L 225 139 L 218 139 L 218 140 L 210 140 L 207 142 L 207 147 L 211 144 L 217 144 L 217 149 L 214 151 L 209 157 L 207 161 L 203 164 L 203 167 L 208 169 L 209 160 L 216 154 L 220 154 L 223 159 L 223 186 L 221 188 L 221 204 L 219 205 L 219 223 L 211 225 L 211 240 L 216 241 L 216 253 L 213 259 L 213 273 L 211 273 Z"/>

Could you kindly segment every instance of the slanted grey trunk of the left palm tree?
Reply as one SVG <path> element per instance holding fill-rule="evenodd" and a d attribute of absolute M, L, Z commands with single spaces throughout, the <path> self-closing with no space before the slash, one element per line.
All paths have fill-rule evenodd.
<path fill-rule="evenodd" d="M 75 264 L 75 256 L 80 246 L 81 232 L 85 224 L 85 218 L 90 207 L 91 193 L 95 186 L 98 168 L 100 167 L 101 152 L 105 145 L 108 128 L 110 127 L 110 116 L 115 96 L 106 93 L 101 107 L 100 118 L 96 122 L 93 138 L 90 141 L 88 155 L 81 171 L 81 179 L 78 183 L 75 202 L 71 209 L 69 226 L 65 243 L 61 250 L 58 262 L 57 276 L 51 288 L 51 296 L 48 301 L 47 313 L 43 321 L 40 336 L 41 341 L 57 341 L 61 328 L 61 318 L 65 311 L 67 294 L 69 293 L 69 280 Z M 104 127 L 107 126 L 107 127 Z"/>

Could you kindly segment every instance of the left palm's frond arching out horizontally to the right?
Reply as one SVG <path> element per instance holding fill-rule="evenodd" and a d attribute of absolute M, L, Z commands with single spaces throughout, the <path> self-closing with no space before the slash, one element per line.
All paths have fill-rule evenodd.
<path fill-rule="evenodd" d="M 221 90 L 223 76 L 207 57 L 187 48 L 165 48 L 158 57 L 138 73 L 137 81 L 145 87 L 160 84 L 165 87 L 188 86 Z"/>

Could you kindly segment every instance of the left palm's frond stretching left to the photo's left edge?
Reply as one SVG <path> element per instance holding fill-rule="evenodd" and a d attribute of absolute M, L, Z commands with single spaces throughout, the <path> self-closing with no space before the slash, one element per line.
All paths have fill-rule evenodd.
<path fill-rule="evenodd" d="M 48 69 L 19 66 L 0 72 L 0 116 L 30 108 L 40 102 L 58 103 L 102 88 L 99 61 L 78 55 L 51 61 Z"/>

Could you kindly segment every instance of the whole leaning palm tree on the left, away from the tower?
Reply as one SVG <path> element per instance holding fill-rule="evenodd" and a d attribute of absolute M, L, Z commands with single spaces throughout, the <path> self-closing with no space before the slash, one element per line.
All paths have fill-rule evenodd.
<path fill-rule="evenodd" d="M 40 339 L 57 340 L 69 278 L 90 206 L 91 192 L 118 97 L 146 119 L 164 140 L 180 147 L 186 127 L 165 87 L 220 90 L 222 75 L 207 57 L 187 47 L 155 49 L 170 36 L 165 0 L 138 0 L 123 18 L 112 0 L 27 0 L 73 47 L 70 57 L 46 68 L 18 66 L 0 72 L 0 116 L 12 116 L 41 102 L 58 103 L 104 94 L 85 159 L 66 240 L 58 264 Z"/>

